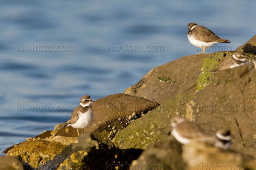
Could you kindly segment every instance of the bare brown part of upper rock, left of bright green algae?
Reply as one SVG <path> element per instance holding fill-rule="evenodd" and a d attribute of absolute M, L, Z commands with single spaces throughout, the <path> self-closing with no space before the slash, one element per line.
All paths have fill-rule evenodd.
<path fill-rule="evenodd" d="M 218 52 L 200 56 L 189 55 L 160 65 L 151 69 L 137 84 L 126 89 L 124 93 L 146 97 L 148 100 L 161 105 L 170 99 L 175 99 L 176 96 L 193 94 L 197 90 L 198 77 L 201 74 L 204 58 L 209 56 L 218 58 L 217 56 L 220 56 L 220 54 Z M 208 64 L 210 68 L 214 68 L 218 63 Z M 175 82 L 162 81 L 158 77 L 165 77 Z"/>

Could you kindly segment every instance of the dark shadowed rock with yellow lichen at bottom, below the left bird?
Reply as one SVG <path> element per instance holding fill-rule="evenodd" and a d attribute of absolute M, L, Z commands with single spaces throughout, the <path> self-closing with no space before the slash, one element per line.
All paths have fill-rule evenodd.
<path fill-rule="evenodd" d="M 64 150 L 49 160 L 47 164 L 41 164 L 38 170 L 102 170 L 114 169 L 124 166 L 128 169 L 133 159 L 142 152 L 141 150 L 120 150 L 102 142 L 99 136 L 93 133 L 83 133 L 77 143 L 72 143 Z M 123 162 L 126 162 L 123 164 Z"/>

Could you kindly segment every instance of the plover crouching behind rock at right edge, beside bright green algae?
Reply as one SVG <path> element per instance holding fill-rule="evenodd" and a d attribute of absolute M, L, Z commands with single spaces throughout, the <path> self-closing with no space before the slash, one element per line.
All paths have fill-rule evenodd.
<path fill-rule="evenodd" d="M 244 52 L 236 52 L 232 55 L 231 58 L 226 59 L 217 69 L 212 69 L 210 72 L 216 72 L 221 70 L 226 70 L 229 68 L 238 67 L 244 65 L 249 59 L 246 58 Z"/>

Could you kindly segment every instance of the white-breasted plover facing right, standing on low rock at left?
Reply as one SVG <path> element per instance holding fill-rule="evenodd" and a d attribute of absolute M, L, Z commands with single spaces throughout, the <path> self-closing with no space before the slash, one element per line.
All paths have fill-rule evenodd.
<path fill-rule="evenodd" d="M 82 96 L 80 106 L 71 114 L 70 124 L 68 126 L 77 128 L 78 136 L 78 129 L 88 127 L 93 122 L 93 108 L 90 106 L 92 102 L 94 101 L 90 96 Z"/>

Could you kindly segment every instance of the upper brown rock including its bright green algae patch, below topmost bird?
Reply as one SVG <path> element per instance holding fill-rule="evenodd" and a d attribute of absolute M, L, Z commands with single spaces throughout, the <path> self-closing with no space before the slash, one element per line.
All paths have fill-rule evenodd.
<path fill-rule="evenodd" d="M 256 36 L 249 42 L 255 45 L 255 39 Z M 250 47 L 254 49 L 255 46 Z M 251 51 L 247 50 L 247 52 Z M 233 51 L 219 51 L 199 56 L 181 57 L 151 69 L 137 84 L 126 89 L 124 93 L 146 97 L 160 104 L 164 104 L 181 94 L 193 94 L 212 81 L 214 74 L 209 70 L 218 68 L 224 60 L 230 59 L 233 53 Z M 251 59 L 256 59 L 253 54 L 250 54 L 250 56 Z M 175 83 L 161 81 L 158 77 L 175 80 Z"/>

